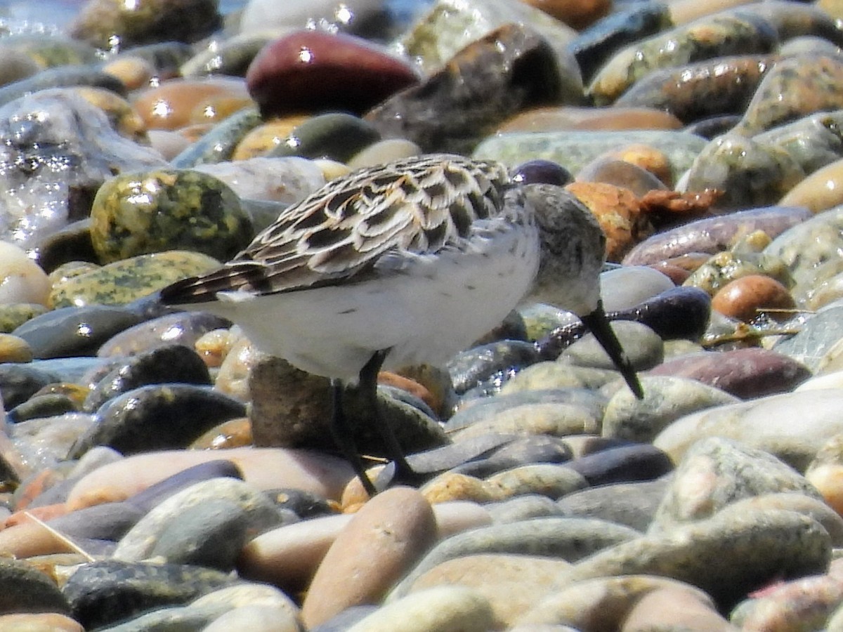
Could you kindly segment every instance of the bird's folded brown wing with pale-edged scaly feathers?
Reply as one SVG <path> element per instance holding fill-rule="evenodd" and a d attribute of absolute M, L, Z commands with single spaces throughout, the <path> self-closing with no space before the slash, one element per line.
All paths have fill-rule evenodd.
<path fill-rule="evenodd" d="M 203 303 L 217 292 L 266 294 L 367 277 L 396 252 L 435 253 L 478 219 L 496 217 L 509 184 L 500 163 L 448 154 L 359 169 L 288 207 L 234 260 L 164 288 L 164 303 Z"/>

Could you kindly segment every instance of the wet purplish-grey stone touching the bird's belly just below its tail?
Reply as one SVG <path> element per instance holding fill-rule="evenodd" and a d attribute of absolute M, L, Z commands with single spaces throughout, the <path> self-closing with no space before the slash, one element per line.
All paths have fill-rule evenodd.
<path fill-rule="evenodd" d="M 205 312 L 179 312 L 130 327 L 99 347 L 100 357 L 134 356 L 164 345 L 193 348 L 208 331 L 228 326 L 228 321 Z"/>

